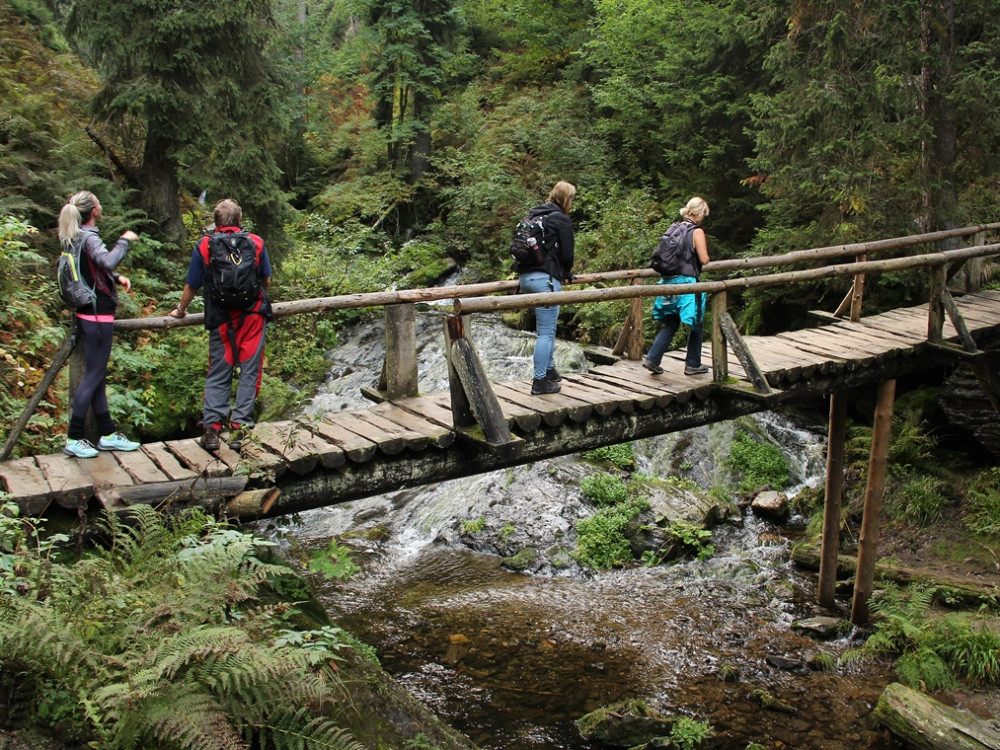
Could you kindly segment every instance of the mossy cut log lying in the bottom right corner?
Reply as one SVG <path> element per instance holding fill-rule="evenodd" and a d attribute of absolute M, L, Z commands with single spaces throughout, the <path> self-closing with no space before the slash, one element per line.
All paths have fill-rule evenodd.
<path fill-rule="evenodd" d="M 874 716 L 914 750 L 1000 748 L 1000 732 L 983 719 L 898 682 L 882 691 Z"/>

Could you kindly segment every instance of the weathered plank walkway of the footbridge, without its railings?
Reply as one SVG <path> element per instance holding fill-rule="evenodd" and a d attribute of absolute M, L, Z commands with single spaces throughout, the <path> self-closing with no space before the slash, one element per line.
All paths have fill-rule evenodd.
<path fill-rule="evenodd" d="M 960 296 L 956 304 L 974 337 L 1000 337 L 1000 292 Z M 838 383 L 874 382 L 884 372 L 921 369 L 927 352 L 932 351 L 926 340 L 927 305 L 892 310 L 856 323 L 830 318 L 822 323 L 775 336 L 745 338 L 773 388 L 816 384 L 830 392 L 841 387 Z M 944 338 L 958 340 L 948 320 Z M 553 444 L 547 455 L 558 455 L 570 452 L 574 440 L 592 445 L 630 439 L 628 425 L 636 423 L 644 425 L 646 433 L 659 434 L 727 418 L 728 412 L 717 402 L 732 400 L 732 388 L 713 383 L 711 374 L 683 375 L 683 358 L 683 351 L 669 352 L 662 375 L 627 360 L 595 365 L 586 373 L 564 373 L 557 394 L 532 396 L 528 382 L 494 383 L 493 389 L 516 437 L 549 450 L 545 441 L 550 436 L 565 436 L 558 445 L 550 440 Z M 703 361 L 711 362 L 710 344 L 704 347 Z M 728 366 L 736 386 L 749 391 L 746 374 L 731 351 Z M 813 390 L 812 395 L 817 392 Z M 421 475 L 462 475 L 489 465 L 488 461 L 470 462 L 481 448 L 474 441 L 470 445 L 470 436 L 452 426 L 450 396 L 445 392 L 322 418 L 260 424 L 242 453 L 226 445 L 209 453 L 197 440 L 171 440 L 143 445 L 133 453 L 102 452 L 88 460 L 57 454 L 5 461 L 0 463 L 0 479 L 10 499 L 29 515 L 40 515 L 53 503 L 83 508 L 95 498 L 119 509 L 136 502 L 156 504 L 179 498 L 218 507 L 244 489 L 267 494 L 268 503 L 273 504 L 281 487 L 294 489 L 295 482 L 305 480 L 322 484 L 324 477 L 336 478 L 342 487 L 350 484 L 352 472 L 366 477 L 370 486 L 391 485 L 396 475 L 402 477 L 401 482 L 416 482 L 413 477 Z M 521 460 L 537 457 L 533 453 Z M 436 469 L 427 468 L 435 464 Z M 275 491 L 263 492 L 272 488 Z"/>

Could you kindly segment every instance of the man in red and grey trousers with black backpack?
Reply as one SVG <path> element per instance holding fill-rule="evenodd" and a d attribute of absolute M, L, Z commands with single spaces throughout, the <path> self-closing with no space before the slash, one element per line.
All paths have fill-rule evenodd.
<path fill-rule="evenodd" d="M 203 289 L 208 329 L 208 375 L 205 378 L 201 445 L 214 451 L 229 423 L 229 446 L 239 450 L 254 425 L 254 402 L 260 392 L 264 332 L 271 319 L 267 288 L 271 261 L 264 240 L 244 232 L 243 211 L 226 198 L 215 205 L 215 231 L 195 245 L 181 301 L 170 315 L 183 318 L 195 292 Z M 236 400 L 230 408 L 233 375 L 239 372 Z"/>

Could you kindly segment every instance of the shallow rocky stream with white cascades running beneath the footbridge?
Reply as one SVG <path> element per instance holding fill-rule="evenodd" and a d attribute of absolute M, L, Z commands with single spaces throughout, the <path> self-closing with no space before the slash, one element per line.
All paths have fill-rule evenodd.
<path fill-rule="evenodd" d="M 442 317 L 433 309 L 418 315 L 421 392 L 447 389 Z M 489 352 L 482 359 L 491 379 L 527 388 L 532 334 L 482 316 L 471 337 Z M 380 323 L 358 326 L 331 352 L 329 381 L 307 412 L 362 405 L 360 387 L 374 384 L 383 340 Z M 573 344 L 557 342 L 556 358 L 563 371 L 586 368 Z M 782 447 L 790 493 L 820 480 L 821 416 L 816 429 L 771 412 L 743 419 Z M 733 486 L 724 457 L 740 428 L 722 423 L 637 441 L 637 470 L 683 475 L 704 490 Z M 788 561 L 787 528 L 748 515 L 715 530 L 708 560 L 586 571 L 570 552 L 575 523 L 594 510 L 580 492 L 592 471 L 574 456 L 539 461 L 309 511 L 281 536 L 306 547 L 333 537 L 351 546 L 363 570 L 324 587 L 332 616 L 483 748 L 589 748 L 575 719 L 625 698 L 709 722 L 719 735 L 714 747 L 879 747 L 864 715 L 883 676 L 856 685 L 858 666 L 826 675 L 767 661 L 847 647 L 789 628 L 818 609 L 814 580 Z M 501 565 L 525 546 L 562 548 L 566 564 L 541 574 Z M 723 665 L 738 682 L 720 679 Z M 796 713 L 763 711 L 749 698 L 754 689 L 792 701 Z"/>

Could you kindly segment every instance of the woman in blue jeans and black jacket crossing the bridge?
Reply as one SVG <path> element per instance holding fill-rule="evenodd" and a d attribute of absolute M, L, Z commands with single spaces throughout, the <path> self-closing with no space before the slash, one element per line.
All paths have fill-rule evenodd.
<path fill-rule="evenodd" d="M 539 265 L 518 267 L 518 280 L 522 294 L 558 292 L 562 285 L 573 278 L 573 221 L 569 218 L 576 188 L 560 181 L 549 192 L 547 202 L 528 212 L 529 218 L 543 218 L 542 261 Z M 558 393 L 562 376 L 556 370 L 554 359 L 556 323 L 559 306 L 535 308 L 535 341 L 533 356 L 534 377 L 532 395 Z"/>

